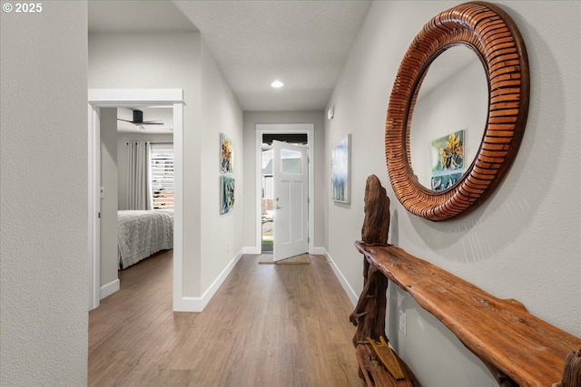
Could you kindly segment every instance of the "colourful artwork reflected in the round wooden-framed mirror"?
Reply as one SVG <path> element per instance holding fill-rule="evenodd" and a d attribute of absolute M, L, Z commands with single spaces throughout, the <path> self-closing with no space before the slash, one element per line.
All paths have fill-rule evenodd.
<path fill-rule="evenodd" d="M 464 131 L 455 131 L 431 143 L 432 189 L 444 190 L 464 173 Z"/>

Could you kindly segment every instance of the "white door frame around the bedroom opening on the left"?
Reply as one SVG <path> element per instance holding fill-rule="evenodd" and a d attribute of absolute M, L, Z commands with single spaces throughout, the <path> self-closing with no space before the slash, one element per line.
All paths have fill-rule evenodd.
<path fill-rule="evenodd" d="M 89 89 L 88 90 L 88 201 L 89 201 L 89 273 L 91 298 L 89 310 L 101 302 L 101 108 L 135 105 L 165 105 L 173 108 L 173 305 L 182 299 L 182 89 Z"/>

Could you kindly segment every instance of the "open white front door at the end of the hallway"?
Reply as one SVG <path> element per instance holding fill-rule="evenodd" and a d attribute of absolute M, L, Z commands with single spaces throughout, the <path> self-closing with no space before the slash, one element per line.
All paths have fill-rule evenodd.
<path fill-rule="evenodd" d="M 304 145 L 272 141 L 273 260 L 309 250 L 309 152 Z"/>

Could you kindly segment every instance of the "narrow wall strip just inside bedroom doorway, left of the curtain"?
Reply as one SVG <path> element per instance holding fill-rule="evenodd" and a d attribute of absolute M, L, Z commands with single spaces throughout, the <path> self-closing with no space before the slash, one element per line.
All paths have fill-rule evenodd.
<path fill-rule="evenodd" d="M 101 123 L 101 286 L 117 281 L 117 109 L 102 108 Z"/>

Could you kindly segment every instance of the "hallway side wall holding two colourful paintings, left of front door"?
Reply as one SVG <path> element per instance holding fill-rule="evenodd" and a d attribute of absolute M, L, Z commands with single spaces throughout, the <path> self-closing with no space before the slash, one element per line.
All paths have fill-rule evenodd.
<path fill-rule="evenodd" d="M 243 175 L 245 151 L 242 111 L 222 78 L 212 54 L 202 41 L 202 289 L 206 290 L 222 270 L 241 253 L 244 215 Z M 220 133 L 234 144 L 234 206 L 220 214 Z M 240 256 L 238 256 L 240 257 Z"/>

